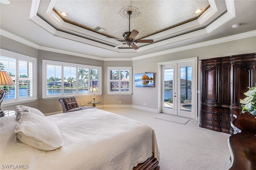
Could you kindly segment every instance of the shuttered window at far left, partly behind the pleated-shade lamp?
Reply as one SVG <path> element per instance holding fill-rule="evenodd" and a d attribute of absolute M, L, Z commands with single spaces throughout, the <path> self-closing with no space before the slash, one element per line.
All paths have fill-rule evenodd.
<path fill-rule="evenodd" d="M 8 106 L 36 100 L 36 58 L 4 49 L 0 52 L 0 69 L 8 72 L 15 83 L 14 86 L 1 87 L 8 90 L 3 104 Z"/>

